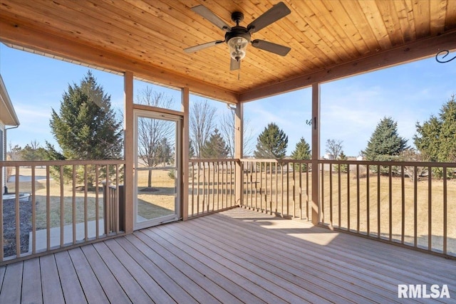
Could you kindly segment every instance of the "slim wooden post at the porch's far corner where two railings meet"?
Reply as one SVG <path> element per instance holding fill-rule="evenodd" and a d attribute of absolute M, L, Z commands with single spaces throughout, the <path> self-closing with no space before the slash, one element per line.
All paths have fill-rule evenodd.
<path fill-rule="evenodd" d="M 243 166 L 240 159 L 244 157 L 244 105 L 238 103 L 234 111 L 234 158 L 236 162 L 236 204 L 241 206 L 244 202 L 244 174 L 242 174 Z"/>

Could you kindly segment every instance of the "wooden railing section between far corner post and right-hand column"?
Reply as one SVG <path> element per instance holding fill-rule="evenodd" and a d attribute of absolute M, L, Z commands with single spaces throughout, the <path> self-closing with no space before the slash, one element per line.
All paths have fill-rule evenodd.
<path fill-rule="evenodd" d="M 309 160 L 242 159 L 242 206 L 286 218 L 311 220 Z"/>

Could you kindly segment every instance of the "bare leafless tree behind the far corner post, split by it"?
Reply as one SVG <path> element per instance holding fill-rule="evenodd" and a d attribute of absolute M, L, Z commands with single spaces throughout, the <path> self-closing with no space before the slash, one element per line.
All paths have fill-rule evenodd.
<path fill-rule="evenodd" d="M 225 112 L 220 124 L 220 132 L 222 133 L 224 141 L 227 143 L 229 155 L 234 157 L 234 128 L 235 128 L 235 112 L 230 108 L 229 112 Z M 242 141 L 244 155 L 249 155 L 254 152 L 253 148 L 253 128 L 249 125 L 249 120 L 244 120 L 244 132 Z"/>

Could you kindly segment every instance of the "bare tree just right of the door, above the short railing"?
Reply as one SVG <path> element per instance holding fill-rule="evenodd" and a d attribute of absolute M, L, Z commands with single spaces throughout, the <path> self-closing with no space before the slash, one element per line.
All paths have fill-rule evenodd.
<path fill-rule="evenodd" d="M 204 142 L 214 132 L 215 111 L 216 108 L 209 105 L 207 100 L 204 103 L 197 102 L 192 105 L 190 111 L 190 138 L 195 149 L 195 156 L 198 158 L 201 158 Z"/>

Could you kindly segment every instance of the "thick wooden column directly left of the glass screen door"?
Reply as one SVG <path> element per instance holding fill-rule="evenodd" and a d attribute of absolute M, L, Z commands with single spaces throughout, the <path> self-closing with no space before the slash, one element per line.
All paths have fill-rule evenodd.
<path fill-rule="evenodd" d="M 134 198 L 133 187 L 135 187 L 135 173 L 133 172 L 133 73 L 125 72 L 124 75 L 124 125 L 123 125 L 123 153 L 125 157 L 125 177 L 124 177 L 124 194 L 125 194 L 125 223 L 124 228 L 127 234 L 133 233 L 133 210 Z"/>

